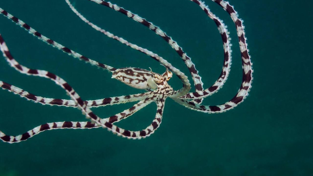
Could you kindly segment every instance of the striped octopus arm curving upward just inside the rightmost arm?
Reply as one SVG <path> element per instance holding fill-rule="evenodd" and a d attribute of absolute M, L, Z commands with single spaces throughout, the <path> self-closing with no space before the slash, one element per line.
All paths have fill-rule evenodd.
<path fill-rule="evenodd" d="M 193 92 L 193 93 L 188 93 L 185 96 L 182 96 L 180 98 L 182 99 L 197 99 L 197 98 L 205 98 L 208 96 L 211 96 L 212 94 L 216 93 L 219 89 L 223 87 L 225 84 L 229 71 L 230 71 L 230 66 L 231 66 L 231 61 L 232 61 L 232 50 L 231 50 L 231 44 L 230 44 L 230 37 L 229 37 L 229 32 L 227 31 L 227 26 L 223 23 L 223 20 L 220 20 L 217 16 L 215 16 L 210 9 L 208 8 L 207 5 L 204 4 L 202 1 L 198 0 L 191 0 L 194 3 L 197 3 L 202 10 L 208 15 L 209 18 L 213 19 L 215 24 L 218 27 L 218 31 L 220 32 L 223 40 L 223 47 L 224 47 L 224 63 L 223 63 L 223 69 L 218 77 L 218 80 L 215 81 L 215 83 L 210 86 L 209 88 L 203 90 L 203 91 L 198 91 L 198 92 Z"/>

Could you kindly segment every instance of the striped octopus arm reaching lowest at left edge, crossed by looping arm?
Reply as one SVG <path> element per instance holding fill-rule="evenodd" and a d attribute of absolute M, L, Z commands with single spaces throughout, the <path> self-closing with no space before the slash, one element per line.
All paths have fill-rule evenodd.
<path fill-rule="evenodd" d="M 114 116 L 111 116 L 109 118 L 102 119 L 105 122 L 119 122 L 122 119 L 125 119 L 131 115 L 133 115 L 135 112 L 139 111 L 141 108 L 147 106 L 152 101 L 146 101 L 146 102 L 139 102 L 132 106 L 130 109 L 127 109 L 121 113 L 118 113 Z M 91 129 L 91 128 L 99 128 L 101 126 L 92 123 L 92 122 L 52 122 L 52 123 L 45 123 L 43 125 L 40 125 L 38 127 L 33 128 L 32 130 L 29 130 L 28 132 L 25 132 L 21 135 L 17 136 L 9 136 L 4 134 L 0 131 L 0 140 L 3 142 L 8 143 L 16 143 L 21 142 L 29 139 L 30 137 L 33 137 L 34 135 L 39 134 L 40 132 L 46 131 L 46 130 L 54 130 L 54 129 Z"/>

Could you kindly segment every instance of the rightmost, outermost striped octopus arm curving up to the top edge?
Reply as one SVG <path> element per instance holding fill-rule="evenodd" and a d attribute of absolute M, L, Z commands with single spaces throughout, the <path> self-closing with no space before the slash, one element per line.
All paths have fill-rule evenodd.
<path fill-rule="evenodd" d="M 231 16 L 233 22 L 236 25 L 237 35 L 239 38 L 240 51 L 241 51 L 242 68 L 243 68 L 242 84 L 237 94 L 230 101 L 222 105 L 218 105 L 218 106 L 196 105 L 192 103 L 191 101 L 187 101 L 183 99 L 174 99 L 175 101 L 179 102 L 183 106 L 186 106 L 187 108 L 190 108 L 196 111 L 207 112 L 207 113 L 225 112 L 239 105 L 249 95 L 249 91 L 252 87 L 251 84 L 253 80 L 251 56 L 249 55 L 249 49 L 247 48 L 247 43 L 246 43 L 247 38 L 245 37 L 243 20 L 238 18 L 238 13 L 234 10 L 233 6 L 229 5 L 228 2 L 225 2 L 222 0 L 215 0 L 214 2 L 218 3 L 221 7 L 223 7 L 227 11 L 227 13 Z"/>

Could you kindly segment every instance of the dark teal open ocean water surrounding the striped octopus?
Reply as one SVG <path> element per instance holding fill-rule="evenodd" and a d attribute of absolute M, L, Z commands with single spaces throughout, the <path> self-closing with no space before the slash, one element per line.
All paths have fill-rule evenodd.
<path fill-rule="evenodd" d="M 87 0 L 71 2 L 91 22 L 162 56 L 191 80 L 179 55 L 153 31 L 110 8 Z M 218 78 L 223 43 L 215 23 L 197 4 L 187 0 L 111 2 L 146 18 L 177 41 L 199 70 L 204 88 Z M 226 84 L 203 102 L 218 105 L 233 98 L 240 87 L 241 57 L 228 13 L 209 0 L 205 2 L 228 25 L 233 44 L 233 65 Z M 127 140 L 97 128 L 52 130 L 20 143 L 0 142 L 0 176 L 313 175 L 312 1 L 231 0 L 230 4 L 244 19 L 254 68 L 252 90 L 242 104 L 225 113 L 205 114 L 167 99 L 161 126 L 141 140 Z M 165 70 L 145 54 L 95 31 L 63 0 L 2 0 L 0 7 L 93 60 L 115 68 Z M 18 62 L 59 75 L 84 100 L 143 92 L 43 43 L 3 15 L 0 33 Z M 3 58 L 0 65 L 4 82 L 38 96 L 69 99 L 50 80 L 23 75 Z M 181 88 L 176 76 L 169 84 Z M 0 97 L 0 130 L 8 135 L 22 134 L 46 122 L 87 121 L 75 108 L 43 106 L 5 90 Z M 92 110 L 104 118 L 132 104 Z M 117 124 L 129 130 L 144 129 L 155 111 L 156 105 L 151 103 Z"/>

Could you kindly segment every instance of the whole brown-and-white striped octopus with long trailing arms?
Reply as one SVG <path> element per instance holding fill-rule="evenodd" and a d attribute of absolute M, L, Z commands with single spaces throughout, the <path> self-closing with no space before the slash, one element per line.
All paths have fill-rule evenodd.
<path fill-rule="evenodd" d="M 128 42 L 127 40 L 118 37 L 100 27 L 95 25 L 94 23 L 91 23 L 89 20 L 87 20 L 81 13 L 79 13 L 74 6 L 70 3 L 69 0 L 65 0 L 66 3 L 69 5 L 69 8 L 85 23 L 90 25 L 90 27 L 94 28 L 95 30 L 99 31 L 100 33 L 106 35 L 109 38 L 115 39 L 122 44 L 125 44 L 126 46 L 131 47 L 132 49 L 138 50 L 141 53 L 144 53 L 157 62 L 159 62 L 161 65 L 163 65 L 166 68 L 166 71 L 162 74 L 155 73 L 150 70 L 145 70 L 141 68 L 134 68 L 134 67 L 125 67 L 125 68 L 114 68 L 109 65 L 105 65 L 103 63 L 97 62 L 95 60 L 91 60 L 90 58 L 81 55 L 72 49 L 69 49 L 56 41 L 44 36 L 43 34 L 36 31 L 34 28 L 30 27 L 27 23 L 24 23 L 19 18 L 11 15 L 7 11 L 0 8 L 0 13 L 7 17 L 9 20 L 16 23 L 21 28 L 24 28 L 28 33 L 32 34 L 36 38 L 44 41 L 46 44 L 52 45 L 53 47 L 75 57 L 79 60 L 84 60 L 92 65 L 95 65 L 97 67 L 100 67 L 102 69 L 108 70 L 110 73 L 112 73 L 112 78 L 120 80 L 121 82 L 125 83 L 126 85 L 129 85 L 136 89 L 142 89 L 146 90 L 145 93 L 140 94 L 133 94 L 133 95 L 127 95 L 127 96 L 116 96 L 116 97 L 109 97 L 109 98 L 103 98 L 98 100 L 89 100 L 84 101 L 79 96 L 79 94 L 74 91 L 73 87 L 70 86 L 64 79 L 59 77 L 58 75 L 55 75 L 49 71 L 46 70 L 38 70 L 38 69 L 31 69 L 24 65 L 21 65 L 18 63 L 17 60 L 15 60 L 10 53 L 7 44 L 5 43 L 2 35 L 0 34 L 0 49 L 3 53 L 4 58 L 6 61 L 11 65 L 15 70 L 22 74 L 26 75 L 33 75 L 33 76 L 40 76 L 47 78 L 49 80 L 52 80 L 55 82 L 55 84 L 59 85 L 66 91 L 66 93 L 69 95 L 70 99 L 53 99 L 53 98 L 45 98 L 41 96 L 36 96 L 32 93 L 29 93 L 25 90 L 22 90 L 14 85 L 8 84 L 6 82 L 0 81 L 0 87 L 4 90 L 8 90 L 10 92 L 13 92 L 14 94 L 18 94 L 21 97 L 24 97 L 28 100 L 41 103 L 43 105 L 56 105 L 56 106 L 66 106 L 66 107 L 76 107 L 80 109 L 80 111 L 86 116 L 89 121 L 87 122 L 51 122 L 51 123 L 45 123 L 38 127 L 35 127 L 28 132 L 25 132 L 21 135 L 17 136 L 10 136 L 2 131 L 0 131 L 0 139 L 3 142 L 8 143 L 15 143 L 15 142 L 21 142 L 29 139 L 30 137 L 33 137 L 34 135 L 39 134 L 40 132 L 46 131 L 46 130 L 52 130 L 52 129 L 90 129 L 90 128 L 106 128 L 108 131 L 113 132 L 114 134 L 117 134 L 118 136 L 126 137 L 128 139 L 141 139 L 145 137 L 149 137 L 151 134 L 153 134 L 156 129 L 160 127 L 160 124 L 162 122 L 162 116 L 163 116 L 163 110 L 164 110 L 164 104 L 165 100 L 167 98 L 173 99 L 178 104 L 187 107 L 191 110 L 200 111 L 204 113 L 221 113 L 228 111 L 230 109 L 233 109 L 237 105 L 239 105 L 241 102 L 244 101 L 244 99 L 249 95 L 249 91 L 251 89 L 252 84 L 252 63 L 249 55 L 249 50 L 247 48 L 246 43 L 246 37 L 244 32 L 244 25 L 243 20 L 238 17 L 238 13 L 234 10 L 233 6 L 231 6 L 228 2 L 223 0 L 213 0 L 213 2 L 217 3 L 220 7 L 222 7 L 231 17 L 233 20 L 237 35 L 239 39 L 239 46 L 240 46 L 240 52 L 241 52 L 241 60 L 242 60 L 242 71 L 243 71 L 243 77 L 241 86 L 236 93 L 236 95 L 231 98 L 229 101 L 221 104 L 221 105 L 215 105 L 215 106 L 209 106 L 209 105 L 202 105 L 202 101 L 204 98 L 213 95 L 216 93 L 224 83 L 226 82 L 229 71 L 230 71 L 230 65 L 231 65 L 231 44 L 230 44 L 230 37 L 229 32 L 223 23 L 222 20 L 220 20 L 217 16 L 215 16 L 207 5 L 203 1 L 199 0 L 190 0 L 196 5 L 198 5 L 203 12 L 211 18 L 221 35 L 222 41 L 223 41 L 223 48 L 224 48 L 224 61 L 223 61 L 223 68 L 221 71 L 220 76 L 215 81 L 215 83 L 204 89 L 203 88 L 203 82 L 201 81 L 201 77 L 198 73 L 198 70 L 196 69 L 195 65 L 192 63 L 191 59 L 187 54 L 182 50 L 182 48 L 175 42 L 172 37 L 168 36 L 165 32 L 163 32 L 159 27 L 155 26 L 153 23 L 147 21 L 144 18 L 141 18 L 140 16 L 131 13 L 130 11 L 121 8 L 115 4 L 112 4 L 110 2 L 106 2 L 104 0 L 90 0 L 92 3 L 97 3 L 100 5 L 103 5 L 107 8 L 111 8 L 119 13 L 122 13 L 126 15 L 128 18 L 132 18 L 138 23 L 141 23 L 145 27 L 152 30 L 156 35 L 159 35 L 162 37 L 181 57 L 185 65 L 188 67 L 189 72 L 191 73 L 192 80 L 195 86 L 195 92 L 189 92 L 191 90 L 191 84 L 187 78 L 187 76 L 178 70 L 176 67 L 174 67 L 171 63 L 169 63 L 167 60 L 163 59 L 161 56 L 149 51 L 148 49 L 142 48 L 136 44 L 132 44 Z M 168 84 L 168 81 L 172 78 L 172 75 L 175 74 L 178 76 L 178 78 L 182 81 L 182 88 L 179 90 L 173 90 L 173 88 Z M 107 106 L 107 105 L 116 105 L 121 103 L 127 103 L 127 102 L 137 102 L 135 105 L 133 105 L 131 108 L 126 109 L 118 114 L 115 114 L 114 116 L 110 116 L 108 118 L 100 118 L 97 116 L 93 111 L 91 111 L 91 108 L 93 107 L 99 107 L 99 106 Z M 127 117 L 133 115 L 135 112 L 141 110 L 141 108 L 144 108 L 150 103 L 156 103 L 156 116 L 151 122 L 151 124 L 146 127 L 143 130 L 140 131 L 131 131 L 126 130 L 121 127 L 116 126 L 114 123 L 121 121 L 122 119 L 126 119 Z"/>

